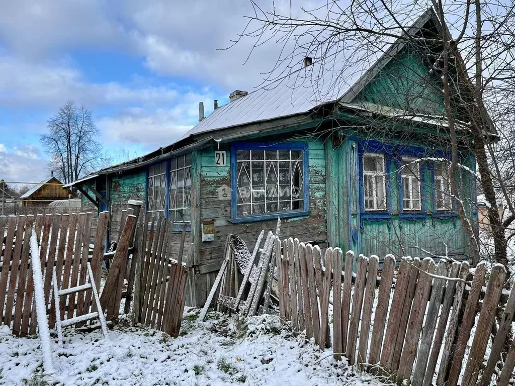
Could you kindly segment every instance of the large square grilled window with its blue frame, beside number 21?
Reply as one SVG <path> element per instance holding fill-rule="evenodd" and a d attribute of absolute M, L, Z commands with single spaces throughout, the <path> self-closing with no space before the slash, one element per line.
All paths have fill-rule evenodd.
<path fill-rule="evenodd" d="M 234 144 L 231 173 L 233 220 L 307 214 L 305 144 Z"/>

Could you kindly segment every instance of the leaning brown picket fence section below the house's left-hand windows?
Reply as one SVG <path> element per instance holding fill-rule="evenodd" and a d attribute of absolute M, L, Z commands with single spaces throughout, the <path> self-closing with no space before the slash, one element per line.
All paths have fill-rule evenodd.
<path fill-rule="evenodd" d="M 150 224 L 149 226 L 147 224 Z M 136 322 L 177 337 L 182 322 L 188 271 L 182 255 L 186 225 L 182 225 L 179 251 L 174 251 L 174 223 L 163 217 L 145 218 L 136 231 L 134 318 Z M 191 249 L 190 249 L 191 251 Z M 178 260 L 171 258 L 178 256 Z"/>

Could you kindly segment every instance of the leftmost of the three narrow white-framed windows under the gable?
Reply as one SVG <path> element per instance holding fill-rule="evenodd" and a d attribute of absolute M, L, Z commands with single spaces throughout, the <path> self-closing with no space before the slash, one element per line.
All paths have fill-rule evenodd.
<path fill-rule="evenodd" d="M 363 187 L 365 210 L 386 210 L 385 157 L 383 154 L 363 155 Z"/>

